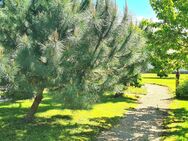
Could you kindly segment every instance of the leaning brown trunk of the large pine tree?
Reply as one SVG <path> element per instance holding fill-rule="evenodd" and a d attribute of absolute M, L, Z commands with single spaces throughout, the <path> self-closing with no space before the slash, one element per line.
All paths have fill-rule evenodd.
<path fill-rule="evenodd" d="M 33 101 L 33 104 L 31 105 L 31 108 L 29 109 L 29 112 L 26 115 L 26 121 L 30 122 L 34 119 L 34 115 L 37 112 L 37 109 L 39 107 L 39 104 L 42 101 L 43 98 L 43 90 L 44 88 L 41 88 L 38 90 L 37 95 L 35 96 L 35 99 Z"/>

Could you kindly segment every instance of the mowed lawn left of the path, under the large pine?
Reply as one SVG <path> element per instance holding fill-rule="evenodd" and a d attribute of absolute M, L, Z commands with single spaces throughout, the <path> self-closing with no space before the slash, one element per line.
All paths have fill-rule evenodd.
<path fill-rule="evenodd" d="M 136 94 L 133 94 L 135 93 Z M 140 93 L 140 95 L 138 94 Z M 96 140 L 102 131 L 115 126 L 126 111 L 135 108 L 146 91 L 129 88 L 123 97 L 104 95 L 90 110 L 63 109 L 49 94 L 36 114 L 36 120 L 25 123 L 23 117 L 32 100 L 0 103 L 0 140 L 3 141 L 85 141 Z"/>

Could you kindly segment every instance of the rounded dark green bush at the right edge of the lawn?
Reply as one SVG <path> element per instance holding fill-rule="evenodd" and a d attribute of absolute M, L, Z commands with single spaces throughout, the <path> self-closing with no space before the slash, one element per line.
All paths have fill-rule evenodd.
<path fill-rule="evenodd" d="M 188 80 L 177 87 L 176 97 L 179 99 L 188 99 Z"/>

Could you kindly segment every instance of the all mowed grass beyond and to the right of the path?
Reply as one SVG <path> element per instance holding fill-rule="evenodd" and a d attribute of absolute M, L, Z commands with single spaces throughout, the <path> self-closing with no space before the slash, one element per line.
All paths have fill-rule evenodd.
<path fill-rule="evenodd" d="M 188 80 L 188 74 L 181 74 L 180 84 Z M 160 79 L 156 74 L 143 74 L 143 83 L 153 83 L 168 86 L 171 92 L 175 92 L 175 74 L 168 78 Z M 174 95 L 175 96 L 175 95 Z M 164 134 L 164 141 L 187 141 L 188 140 L 188 100 L 172 101 L 169 107 L 169 118 L 164 122 L 167 133 Z"/>

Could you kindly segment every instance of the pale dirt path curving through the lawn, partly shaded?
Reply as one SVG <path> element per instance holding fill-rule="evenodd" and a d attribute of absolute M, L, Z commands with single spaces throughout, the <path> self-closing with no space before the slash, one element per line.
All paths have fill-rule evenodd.
<path fill-rule="evenodd" d="M 98 141 L 159 141 L 163 119 L 171 99 L 168 88 L 146 85 L 148 94 L 140 99 L 136 109 L 130 110 L 117 127 L 102 132 Z"/>

